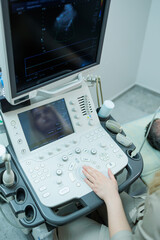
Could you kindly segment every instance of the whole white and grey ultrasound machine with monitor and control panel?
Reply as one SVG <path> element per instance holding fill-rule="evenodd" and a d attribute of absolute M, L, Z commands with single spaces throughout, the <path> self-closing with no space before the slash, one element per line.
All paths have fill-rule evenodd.
<path fill-rule="evenodd" d="M 32 231 L 102 205 L 84 182 L 83 165 L 106 176 L 108 168 L 114 175 L 126 169 L 119 192 L 141 174 L 141 155 L 132 158 L 134 144 L 124 147 L 106 128 L 83 77 L 100 63 L 109 6 L 110 0 L 0 0 L 1 116 L 14 173 L 7 186 L 0 164 L 0 193 Z"/>

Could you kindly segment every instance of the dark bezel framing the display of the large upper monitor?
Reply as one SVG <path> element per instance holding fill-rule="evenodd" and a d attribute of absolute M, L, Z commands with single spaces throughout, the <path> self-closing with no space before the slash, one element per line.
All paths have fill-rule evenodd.
<path fill-rule="evenodd" d="M 19 97 L 19 96 L 29 93 L 33 90 L 44 87 L 48 84 L 52 84 L 53 82 L 57 82 L 58 80 L 61 80 L 65 77 L 69 77 L 69 76 L 71 76 L 75 73 L 81 72 L 85 69 L 94 67 L 100 63 L 105 29 L 106 29 L 107 18 L 108 18 L 108 13 L 109 13 L 109 6 L 110 6 L 111 0 L 104 0 L 105 1 L 104 16 L 103 16 L 103 21 L 102 21 L 102 28 L 101 28 L 99 45 L 98 45 L 98 50 L 97 50 L 97 57 L 96 57 L 95 63 L 85 66 L 81 69 L 74 70 L 70 73 L 62 74 L 59 77 L 54 77 L 54 78 L 53 78 L 53 76 L 46 77 L 46 78 L 44 78 L 45 82 L 35 85 L 33 87 L 30 87 L 28 89 L 25 89 L 23 91 L 17 92 L 15 70 L 14 70 L 12 39 L 11 39 L 11 26 L 10 26 L 10 17 L 9 17 L 9 1 L 10 0 L 1 0 L 1 5 L 2 5 L 2 18 L 3 18 L 3 23 L 4 23 L 4 36 L 5 36 L 5 41 L 6 41 L 7 63 L 8 63 L 8 71 L 9 71 L 10 87 L 11 87 L 10 91 L 11 91 L 12 98 Z"/>

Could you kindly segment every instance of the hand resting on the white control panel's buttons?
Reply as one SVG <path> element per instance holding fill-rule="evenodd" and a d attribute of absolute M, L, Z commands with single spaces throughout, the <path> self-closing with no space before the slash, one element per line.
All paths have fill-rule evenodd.
<path fill-rule="evenodd" d="M 117 181 L 108 169 L 108 177 L 90 166 L 83 166 L 84 181 L 91 189 L 106 203 L 113 199 L 118 193 Z"/>

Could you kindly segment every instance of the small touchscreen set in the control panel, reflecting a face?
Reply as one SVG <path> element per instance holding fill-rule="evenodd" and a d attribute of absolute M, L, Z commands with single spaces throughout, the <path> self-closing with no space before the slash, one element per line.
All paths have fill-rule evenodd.
<path fill-rule="evenodd" d="M 64 99 L 18 114 L 32 151 L 73 133 Z"/>

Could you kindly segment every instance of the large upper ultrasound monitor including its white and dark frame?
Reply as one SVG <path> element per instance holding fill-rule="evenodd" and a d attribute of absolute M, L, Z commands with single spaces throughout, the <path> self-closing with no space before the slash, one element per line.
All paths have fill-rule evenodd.
<path fill-rule="evenodd" d="M 110 0 L 0 0 L 6 99 L 18 104 L 38 88 L 68 81 L 99 64 L 109 4 Z"/>

